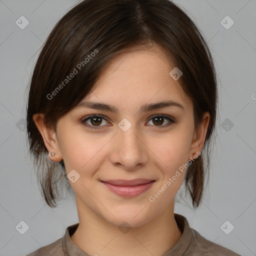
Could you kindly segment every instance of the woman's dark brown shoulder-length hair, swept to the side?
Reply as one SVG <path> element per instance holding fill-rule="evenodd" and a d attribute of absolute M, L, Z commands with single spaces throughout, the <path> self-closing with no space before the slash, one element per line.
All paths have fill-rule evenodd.
<path fill-rule="evenodd" d="M 201 33 L 185 12 L 169 0 L 84 0 L 56 23 L 29 82 L 29 151 L 34 156 L 41 193 L 50 207 L 61 199 L 59 188 L 63 180 L 66 188 L 70 189 L 70 185 L 63 160 L 56 163 L 48 159 L 33 114 L 43 113 L 45 123 L 54 128 L 58 118 L 90 92 L 111 58 L 128 48 L 150 47 L 152 42 L 182 71 L 178 81 L 193 101 L 195 126 L 203 112 L 210 114 L 203 153 L 188 166 L 185 175 L 193 207 L 199 205 L 205 170 L 202 156 L 206 154 L 208 168 L 217 108 L 216 74 Z M 79 70 L 78 64 L 82 67 Z M 74 69 L 78 73 L 65 80 Z"/>

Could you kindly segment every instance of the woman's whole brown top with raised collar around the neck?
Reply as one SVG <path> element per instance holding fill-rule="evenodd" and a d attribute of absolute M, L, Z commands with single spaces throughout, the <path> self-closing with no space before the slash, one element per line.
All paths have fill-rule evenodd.
<path fill-rule="evenodd" d="M 197 231 L 189 227 L 184 216 L 174 213 L 174 217 L 182 231 L 182 236 L 162 256 L 241 256 L 202 237 Z M 89 256 L 70 239 L 70 235 L 74 233 L 78 225 L 79 223 L 68 226 L 62 238 L 26 256 Z"/>

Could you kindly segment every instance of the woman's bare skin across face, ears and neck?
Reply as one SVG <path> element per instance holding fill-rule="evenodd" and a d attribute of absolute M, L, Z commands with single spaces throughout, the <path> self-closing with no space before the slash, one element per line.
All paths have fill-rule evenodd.
<path fill-rule="evenodd" d="M 69 180 L 79 217 L 71 240 L 89 255 L 162 255 L 182 235 L 174 219 L 174 198 L 185 171 L 154 202 L 148 198 L 201 151 L 209 113 L 204 113 L 195 129 L 192 101 L 169 75 L 173 67 L 157 46 L 120 54 L 108 63 L 82 100 L 114 105 L 118 113 L 73 108 L 59 118 L 55 131 L 45 126 L 43 114 L 33 116 L 49 158 L 63 159 L 66 173 L 75 169 L 80 175 L 74 183 Z M 174 100 L 184 109 L 169 106 L 139 112 L 142 105 L 162 100 Z M 81 122 L 91 114 L 106 117 L 97 119 L 100 128 L 90 129 Z M 164 118 L 157 124 L 152 119 L 155 114 L 167 115 L 175 122 Z M 127 131 L 118 127 L 123 118 L 131 123 Z M 91 119 L 86 124 L 97 125 Z M 100 182 L 119 178 L 155 182 L 132 198 L 116 195 Z M 131 227 L 126 233 L 118 228 L 123 221 Z"/>

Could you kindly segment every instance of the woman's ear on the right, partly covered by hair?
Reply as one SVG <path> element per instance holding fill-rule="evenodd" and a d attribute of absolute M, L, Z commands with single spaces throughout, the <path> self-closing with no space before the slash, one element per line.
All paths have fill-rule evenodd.
<path fill-rule="evenodd" d="M 198 156 L 197 152 L 201 152 L 204 141 L 205 141 L 205 136 L 206 136 L 209 120 L 210 120 L 209 112 L 204 112 L 203 116 L 202 116 L 202 121 L 197 125 L 197 129 L 194 130 L 194 134 L 193 134 L 191 147 L 190 147 L 188 156 L 192 157 L 195 154 L 195 152 Z M 189 159 L 191 159 L 191 158 L 189 158 Z"/>

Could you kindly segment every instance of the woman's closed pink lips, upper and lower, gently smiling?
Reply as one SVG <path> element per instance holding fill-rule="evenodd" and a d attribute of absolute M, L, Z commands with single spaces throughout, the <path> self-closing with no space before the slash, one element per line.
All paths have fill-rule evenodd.
<path fill-rule="evenodd" d="M 155 180 L 139 178 L 132 180 L 125 179 L 112 179 L 112 180 L 101 180 L 109 190 L 123 197 L 132 197 L 139 195 L 149 189 Z"/>

